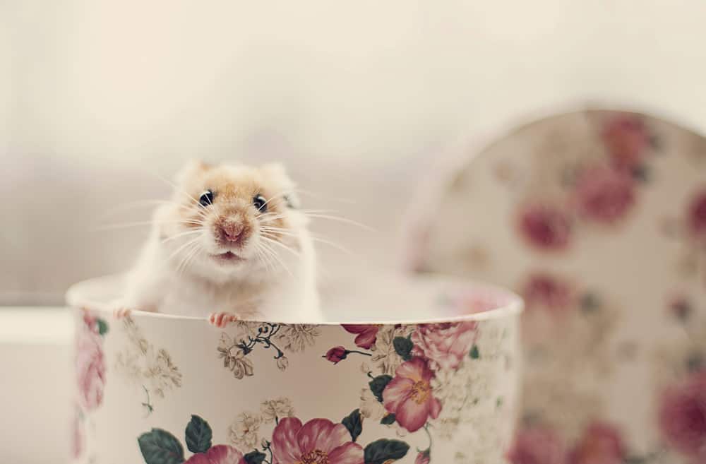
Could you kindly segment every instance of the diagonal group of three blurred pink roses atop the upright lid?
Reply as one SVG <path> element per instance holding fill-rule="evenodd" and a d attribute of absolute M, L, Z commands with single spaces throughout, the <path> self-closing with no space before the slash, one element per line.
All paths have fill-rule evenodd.
<path fill-rule="evenodd" d="M 649 181 L 654 138 L 641 117 L 606 119 L 601 136 L 580 157 L 543 162 L 517 207 L 517 230 L 538 251 L 564 251 L 580 228 L 614 226 L 638 204 L 638 187 Z M 508 166 L 504 166 L 510 169 Z M 505 174 L 501 182 L 517 180 Z"/>

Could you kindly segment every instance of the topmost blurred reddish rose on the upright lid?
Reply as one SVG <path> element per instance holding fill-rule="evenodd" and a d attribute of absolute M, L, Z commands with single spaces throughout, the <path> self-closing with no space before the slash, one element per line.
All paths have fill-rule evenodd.
<path fill-rule="evenodd" d="M 633 114 L 621 114 L 611 119 L 603 128 L 602 138 L 613 165 L 629 171 L 640 165 L 645 149 L 650 145 L 645 123 Z"/>

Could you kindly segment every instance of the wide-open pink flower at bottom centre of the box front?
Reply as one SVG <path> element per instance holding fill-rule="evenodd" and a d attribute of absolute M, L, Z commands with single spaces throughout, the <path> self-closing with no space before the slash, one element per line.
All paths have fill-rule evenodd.
<path fill-rule="evenodd" d="M 363 448 L 351 441 L 343 424 L 328 419 L 301 424 L 285 417 L 273 432 L 272 451 L 277 464 L 364 464 Z"/>

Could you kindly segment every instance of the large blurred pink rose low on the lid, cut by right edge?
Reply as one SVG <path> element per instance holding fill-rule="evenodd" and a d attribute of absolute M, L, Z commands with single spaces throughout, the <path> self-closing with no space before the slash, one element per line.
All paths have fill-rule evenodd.
<path fill-rule="evenodd" d="M 706 462 L 706 371 L 700 371 L 664 391 L 659 427 L 674 449 Z"/>

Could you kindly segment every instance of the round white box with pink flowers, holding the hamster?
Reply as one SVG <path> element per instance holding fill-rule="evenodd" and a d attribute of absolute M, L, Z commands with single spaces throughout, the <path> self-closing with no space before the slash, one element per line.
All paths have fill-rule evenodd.
<path fill-rule="evenodd" d="M 119 280 L 73 287 L 75 463 L 503 463 L 517 396 L 509 292 L 381 278 L 332 288 L 348 323 L 135 312 Z M 339 316 L 340 317 L 340 316 Z"/>

